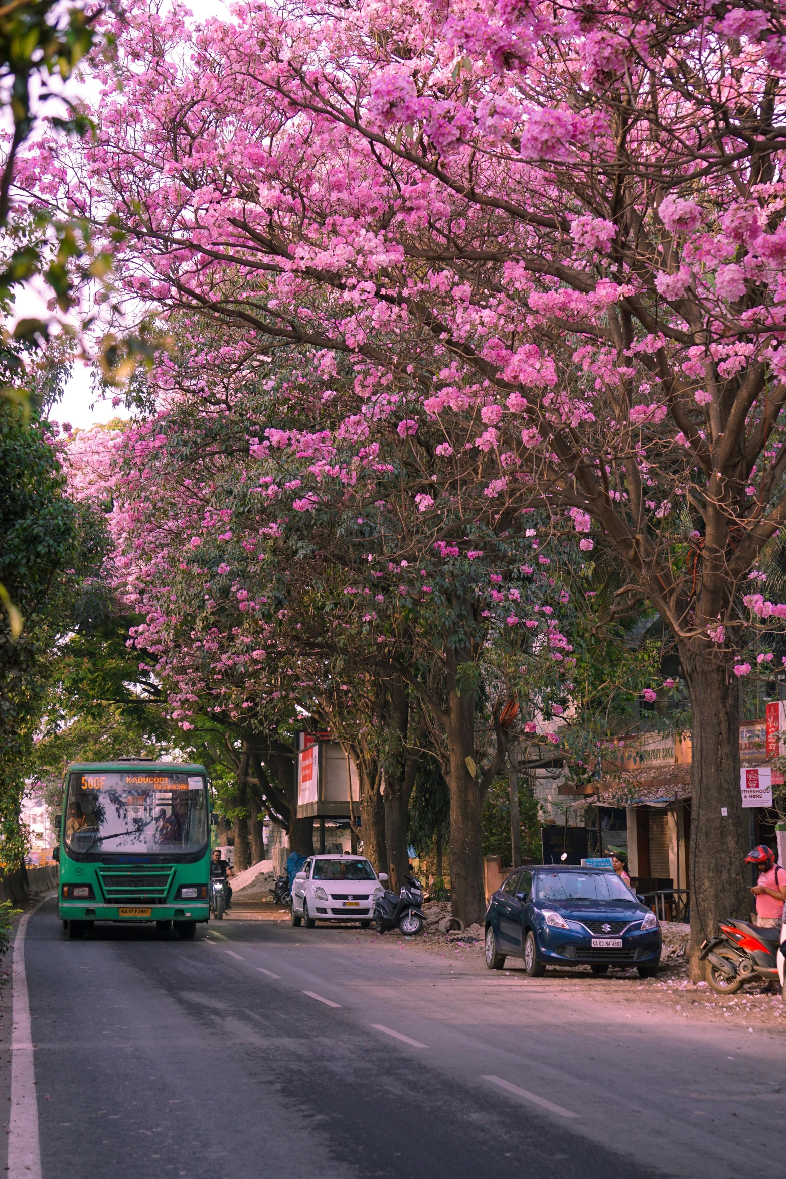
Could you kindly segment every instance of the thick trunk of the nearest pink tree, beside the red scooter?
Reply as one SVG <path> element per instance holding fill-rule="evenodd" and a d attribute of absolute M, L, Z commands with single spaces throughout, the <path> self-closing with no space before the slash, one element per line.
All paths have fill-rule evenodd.
<path fill-rule="evenodd" d="M 680 651 L 693 710 L 691 819 L 691 976 L 704 977 L 701 942 L 724 917 L 747 917 L 749 850 L 740 792 L 740 687 L 709 652 Z M 729 660 L 731 665 L 731 660 Z"/>

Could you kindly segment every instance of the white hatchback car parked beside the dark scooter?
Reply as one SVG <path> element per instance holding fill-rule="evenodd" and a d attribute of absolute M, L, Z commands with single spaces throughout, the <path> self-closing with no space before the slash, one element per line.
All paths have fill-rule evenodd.
<path fill-rule="evenodd" d="M 292 884 L 292 924 L 313 929 L 317 921 L 359 921 L 366 929 L 387 880 L 364 856 L 310 856 Z"/>

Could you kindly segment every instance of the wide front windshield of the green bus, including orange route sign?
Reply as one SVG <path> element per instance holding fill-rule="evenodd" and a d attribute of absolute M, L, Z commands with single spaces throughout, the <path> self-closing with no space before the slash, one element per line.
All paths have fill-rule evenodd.
<path fill-rule="evenodd" d="M 207 843 L 202 775 L 82 771 L 68 782 L 65 839 L 80 855 L 183 855 Z"/>

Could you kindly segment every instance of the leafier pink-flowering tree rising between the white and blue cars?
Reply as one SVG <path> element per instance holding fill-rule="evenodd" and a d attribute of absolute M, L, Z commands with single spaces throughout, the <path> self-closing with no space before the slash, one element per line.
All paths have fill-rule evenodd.
<path fill-rule="evenodd" d="M 297 699 L 355 756 L 364 841 L 384 843 L 395 875 L 417 759 L 434 747 L 451 784 L 454 900 L 476 920 L 480 814 L 507 751 L 500 713 L 520 702 L 536 745 L 529 718 L 564 712 L 573 690 L 562 562 L 539 548 L 536 527 L 511 535 L 495 496 L 481 511 L 470 494 L 473 518 L 442 488 L 427 494 L 445 446 L 435 422 L 366 426 L 348 415 L 351 383 L 336 376 L 321 401 L 309 364 L 259 383 L 220 336 L 222 355 L 200 342 L 161 363 L 169 408 L 126 433 L 117 456 L 118 565 L 126 601 L 147 618 L 134 639 L 169 677 L 186 729 L 205 692 L 209 710 L 269 727 L 282 698 L 271 673 L 290 666 L 284 703 Z"/>

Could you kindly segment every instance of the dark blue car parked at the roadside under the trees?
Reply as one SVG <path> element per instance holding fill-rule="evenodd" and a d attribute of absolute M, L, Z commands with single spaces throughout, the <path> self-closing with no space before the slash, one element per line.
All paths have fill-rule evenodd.
<path fill-rule="evenodd" d="M 661 935 L 650 913 L 615 872 L 602 868 L 541 864 L 517 868 L 491 896 L 486 914 L 486 964 L 524 959 L 533 979 L 547 966 L 635 966 L 653 977 Z"/>

